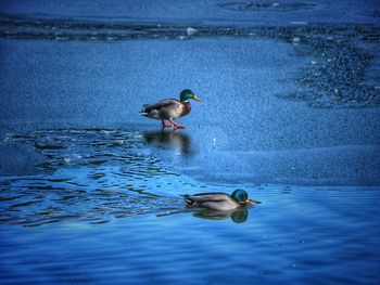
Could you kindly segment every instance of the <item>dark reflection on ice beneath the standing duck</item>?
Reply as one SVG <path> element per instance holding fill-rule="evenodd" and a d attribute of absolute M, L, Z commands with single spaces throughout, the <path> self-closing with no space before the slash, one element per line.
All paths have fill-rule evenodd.
<path fill-rule="evenodd" d="M 160 145 L 168 150 L 179 150 L 182 155 L 190 156 L 191 139 L 179 130 L 144 132 L 143 137 L 147 143 Z"/>

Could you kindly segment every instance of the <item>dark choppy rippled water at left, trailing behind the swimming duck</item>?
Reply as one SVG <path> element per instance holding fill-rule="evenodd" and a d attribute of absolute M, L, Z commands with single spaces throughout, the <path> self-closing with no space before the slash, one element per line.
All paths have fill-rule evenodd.
<path fill-rule="evenodd" d="M 176 138 L 175 138 L 176 139 Z M 0 178 L 0 223 L 38 226 L 62 221 L 104 223 L 143 213 L 164 217 L 188 211 L 181 194 L 229 193 L 168 171 L 154 154 L 151 133 L 106 129 L 68 129 L 9 134 L 26 144 L 42 163 L 33 176 Z M 159 145 L 160 147 L 160 145 Z M 202 191 L 203 190 L 203 191 Z M 246 220 L 246 211 L 191 211 L 195 217 Z"/>

